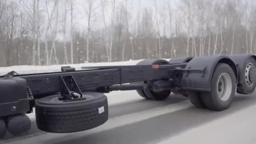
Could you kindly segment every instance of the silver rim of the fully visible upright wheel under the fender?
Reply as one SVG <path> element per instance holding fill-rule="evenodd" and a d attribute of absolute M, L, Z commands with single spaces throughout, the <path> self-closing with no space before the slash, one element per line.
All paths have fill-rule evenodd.
<path fill-rule="evenodd" d="M 223 73 L 219 76 L 217 92 L 222 101 L 227 101 L 229 99 L 232 93 L 232 80 L 229 74 Z"/>

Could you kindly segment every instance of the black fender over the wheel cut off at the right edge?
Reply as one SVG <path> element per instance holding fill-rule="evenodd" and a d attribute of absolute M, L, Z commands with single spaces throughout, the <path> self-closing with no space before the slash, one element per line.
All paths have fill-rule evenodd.
<path fill-rule="evenodd" d="M 242 70 L 245 69 L 246 67 L 246 61 L 250 58 L 253 57 L 254 59 L 256 59 L 255 55 L 252 54 L 235 54 L 235 55 L 230 55 L 229 58 L 232 59 L 232 61 L 235 62 L 236 66 L 237 66 L 237 72 L 238 72 L 238 80 L 237 83 L 243 83 L 244 82 L 244 75 Z"/>

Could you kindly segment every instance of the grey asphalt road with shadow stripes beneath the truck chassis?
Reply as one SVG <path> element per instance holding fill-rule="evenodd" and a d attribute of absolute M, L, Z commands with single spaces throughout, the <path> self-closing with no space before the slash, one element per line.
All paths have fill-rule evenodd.
<path fill-rule="evenodd" d="M 78 133 L 45 133 L 32 123 L 27 135 L 6 144 L 256 144 L 256 93 L 236 95 L 222 112 L 197 109 L 179 95 L 147 101 L 135 91 L 108 95 L 109 120 Z M 29 115 L 32 118 L 34 115 Z"/>

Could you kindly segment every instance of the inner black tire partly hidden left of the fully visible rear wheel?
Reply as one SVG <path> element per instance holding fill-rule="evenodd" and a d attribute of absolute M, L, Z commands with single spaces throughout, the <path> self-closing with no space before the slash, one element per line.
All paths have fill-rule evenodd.
<path fill-rule="evenodd" d="M 203 104 L 200 92 L 198 91 L 187 91 L 189 101 L 197 108 L 204 109 L 205 104 Z"/>

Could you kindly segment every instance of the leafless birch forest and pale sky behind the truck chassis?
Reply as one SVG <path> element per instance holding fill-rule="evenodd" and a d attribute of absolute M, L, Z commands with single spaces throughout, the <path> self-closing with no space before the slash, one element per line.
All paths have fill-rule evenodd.
<path fill-rule="evenodd" d="M 0 66 L 256 52 L 255 0 L 148 1 L 0 0 Z"/>

